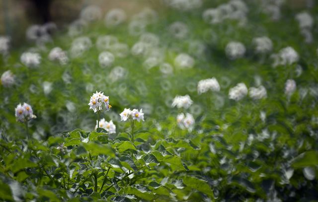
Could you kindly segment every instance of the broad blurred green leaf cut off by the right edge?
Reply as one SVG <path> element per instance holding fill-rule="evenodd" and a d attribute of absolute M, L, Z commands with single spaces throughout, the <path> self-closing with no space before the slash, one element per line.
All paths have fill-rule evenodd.
<path fill-rule="evenodd" d="M 318 165 L 318 151 L 305 151 L 298 155 L 292 161 L 292 166 L 295 168 L 303 168 L 307 166 Z"/>

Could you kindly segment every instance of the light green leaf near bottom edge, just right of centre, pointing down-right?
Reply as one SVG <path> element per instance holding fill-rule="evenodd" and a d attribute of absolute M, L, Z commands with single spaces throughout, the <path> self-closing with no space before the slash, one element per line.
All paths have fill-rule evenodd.
<path fill-rule="evenodd" d="M 204 180 L 200 180 L 196 177 L 185 176 L 183 177 L 183 184 L 192 189 L 196 189 L 211 198 L 213 197 L 213 191 L 211 187 Z"/>

